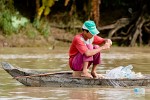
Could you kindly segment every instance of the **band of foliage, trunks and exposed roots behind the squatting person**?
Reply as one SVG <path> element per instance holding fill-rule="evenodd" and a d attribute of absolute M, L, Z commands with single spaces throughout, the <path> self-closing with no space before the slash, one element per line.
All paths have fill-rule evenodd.
<path fill-rule="evenodd" d="M 48 39 L 51 31 L 57 33 L 51 29 L 74 35 L 90 19 L 96 22 L 100 35 L 115 45 L 150 45 L 149 0 L 1 0 L 0 5 L 0 34 L 5 38 L 22 35 L 31 41 L 39 37 L 48 41 L 52 40 Z M 67 35 L 66 40 L 64 33 L 57 35 L 62 37 L 58 40 L 70 39 Z M 0 45 L 1 41 L 7 44 L 3 37 Z"/>

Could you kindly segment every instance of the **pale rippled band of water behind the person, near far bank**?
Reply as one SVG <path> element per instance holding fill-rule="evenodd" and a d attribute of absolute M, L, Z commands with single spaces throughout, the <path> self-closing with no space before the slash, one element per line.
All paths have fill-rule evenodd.
<path fill-rule="evenodd" d="M 131 59 L 135 54 L 102 53 L 103 59 Z M 48 58 L 69 58 L 68 54 L 1 54 L 1 59 L 48 59 Z"/>

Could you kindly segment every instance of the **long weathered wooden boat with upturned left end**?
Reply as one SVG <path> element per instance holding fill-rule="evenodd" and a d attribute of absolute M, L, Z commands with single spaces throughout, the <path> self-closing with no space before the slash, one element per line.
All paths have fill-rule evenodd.
<path fill-rule="evenodd" d="M 89 79 L 73 78 L 72 72 L 44 73 L 21 69 L 2 62 L 3 69 L 25 86 L 34 87 L 132 87 L 150 86 L 150 75 L 144 79 Z"/>

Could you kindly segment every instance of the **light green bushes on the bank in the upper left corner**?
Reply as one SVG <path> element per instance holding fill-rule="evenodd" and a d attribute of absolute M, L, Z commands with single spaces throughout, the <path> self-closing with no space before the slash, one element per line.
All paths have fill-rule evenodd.
<path fill-rule="evenodd" d="M 9 2 L 1 0 L 0 4 L 3 5 L 0 6 L 0 27 L 3 35 L 25 33 L 30 38 L 35 38 L 38 34 L 48 37 L 50 33 L 48 21 L 45 19 L 35 20 L 32 24 L 30 19 L 27 19 L 14 9 L 12 0 Z"/>

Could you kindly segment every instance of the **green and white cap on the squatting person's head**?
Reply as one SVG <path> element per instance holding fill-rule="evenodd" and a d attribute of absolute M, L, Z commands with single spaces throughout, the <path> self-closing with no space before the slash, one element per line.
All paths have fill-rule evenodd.
<path fill-rule="evenodd" d="M 88 30 L 92 35 L 97 35 L 97 34 L 100 33 L 97 30 L 94 21 L 91 21 L 91 20 L 85 21 L 84 24 L 83 24 L 83 26 L 82 26 L 82 28 Z"/>

